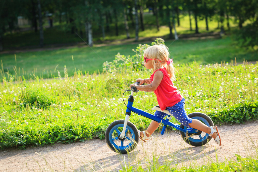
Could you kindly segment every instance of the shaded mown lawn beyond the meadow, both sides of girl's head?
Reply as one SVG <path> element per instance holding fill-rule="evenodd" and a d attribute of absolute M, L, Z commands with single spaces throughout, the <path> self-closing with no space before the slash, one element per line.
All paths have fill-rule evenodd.
<path fill-rule="evenodd" d="M 168 40 L 165 43 L 169 47 L 170 54 L 176 64 L 192 61 L 196 61 L 199 64 L 220 63 L 221 61 L 230 62 L 235 58 L 237 62 L 242 62 L 243 59 L 247 61 L 256 61 L 258 59 L 257 52 L 235 46 L 229 37 L 188 41 Z M 101 72 L 103 62 L 113 61 L 118 52 L 133 55 L 132 49 L 135 49 L 137 45 L 61 48 L 58 50 L 16 53 L 16 55 L 0 54 L 0 60 L 3 63 L 3 71 L 9 71 L 16 78 L 24 75 L 27 79 L 30 77 L 35 79 L 33 74 L 40 78 L 53 78 L 54 76 L 58 77 L 58 71 L 61 76 L 64 76 L 63 69 L 65 65 L 68 70 L 68 76 L 72 76 L 73 72 L 77 70 L 92 74 L 98 70 Z M 14 68 L 16 68 L 16 72 Z M 7 77 L 7 74 L 4 74 Z"/>

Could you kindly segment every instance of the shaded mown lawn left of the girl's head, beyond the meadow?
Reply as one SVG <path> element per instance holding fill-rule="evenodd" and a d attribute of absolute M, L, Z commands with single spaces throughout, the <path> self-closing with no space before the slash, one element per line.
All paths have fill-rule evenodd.
<path fill-rule="evenodd" d="M 12 75 L 16 75 L 13 70 L 16 66 L 18 76 L 24 75 L 26 78 L 30 78 L 30 74 L 33 72 L 39 77 L 52 78 L 54 76 L 58 77 L 58 71 L 61 72 L 63 77 L 65 65 L 67 66 L 69 76 L 73 75 L 73 72 L 77 70 L 89 73 L 94 73 L 94 71 L 98 70 L 102 71 L 102 64 L 106 61 L 112 61 L 117 52 L 133 54 L 131 50 L 134 47 L 135 45 L 62 48 L 58 50 L 17 53 L 16 55 L 1 54 L 0 59 L 3 63 L 4 71 L 9 71 Z"/>

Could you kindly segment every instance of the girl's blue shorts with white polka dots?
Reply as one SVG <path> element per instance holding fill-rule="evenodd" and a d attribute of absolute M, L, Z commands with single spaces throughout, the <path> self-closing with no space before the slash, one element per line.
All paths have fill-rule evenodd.
<path fill-rule="evenodd" d="M 184 126 L 189 127 L 189 124 L 192 123 L 192 119 L 187 116 L 187 113 L 184 109 L 184 98 L 179 101 L 177 104 L 171 107 L 167 107 L 166 109 Z M 156 111 L 154 113 L 155 116 L 160 118 L 164 118 L 167 114 L 161 111 Z"/>

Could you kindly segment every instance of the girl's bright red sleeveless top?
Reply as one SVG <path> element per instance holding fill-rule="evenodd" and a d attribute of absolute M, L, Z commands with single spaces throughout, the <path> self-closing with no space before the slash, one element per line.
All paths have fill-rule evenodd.
<path fill-rule="evenodd" d="M 172 80 L 167 74 L 166 68 L 160 68 L 157 71 L 161 71 L 163 73 L 163 79 L 161 80 L 160 85 L 154 91 L 157 96 L 158 104 L 161 110 L 165 110 L 166 107 L 171 107 L 177 104 L 182 100 L 182 95 L 177 90 L 176 86 L 173 85 Z M 156 71 L 155 71 L 156 72 Z M 151 75 L 151 83 L 153 81 L 153 76 L 155 72 Z"/>

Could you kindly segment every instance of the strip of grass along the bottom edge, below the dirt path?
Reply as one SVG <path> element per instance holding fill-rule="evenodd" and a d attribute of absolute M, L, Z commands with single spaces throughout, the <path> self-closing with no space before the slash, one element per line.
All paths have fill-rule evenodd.
<path fill-rule="evenodd" d="M 235 157 L 231 160 L 226 160 L 224 162 L 209 162 L 206 165 L 199 165 L 196 163 L 191 164 L 190 166 L 179 167 L 177 164 L 174 164 L 173 161 L 165 160 L 165 162 L 160 163 L 158 158 L 153 157 L 153 160 L 146 160 L 145 164 L 141 164 L 138 162 L 137 165 L 123 165 L 123 169 L 121 172 L 133 172 L 133 171 L 172 171 L 172 172 L 181 172 L 181 171 L 189 171 L 189 172 L 241 172 L 241 171 L 249 171 L 255 172 L 258 170 L 258 150 L 256 150 L 255 156 L 247 156 L 241 157 L 240 155 L 235 154 Z M 124 162 L 126 164 L 126 162 Z"/>

